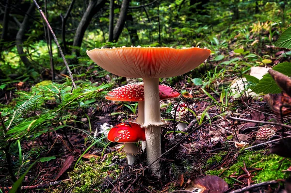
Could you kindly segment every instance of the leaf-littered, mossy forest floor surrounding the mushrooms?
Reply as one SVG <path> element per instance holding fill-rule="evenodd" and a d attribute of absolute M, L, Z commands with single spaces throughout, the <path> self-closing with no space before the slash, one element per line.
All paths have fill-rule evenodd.
<path fill-rule="evenodd" d="M 284 152 L 288 148 L 279 144 L 271 153 L 272 143 L 262 144 L 265 141 L 258 140 L 256 135 L 259 128 L 272 128 L 275 135 L 266 139 L 271 141 L 280 138 L 282 133 L 284 136 L 290 135 L 291 129 L 273 125 L 273 122 L 280 122 L 280 114 L 275 113 L 262 96 L 251 96 L 245 92 L 247 85 L 243 89 L 237 88 L 238 83 L 234 80 L 242 79 L 240 73 L 249 74 L 254 66 L 248 65 L 250 61 L 257 66 L 272 67 L 274 64 L 289 62 L 290 55 L 286 54 L 286 50 L 273 46 L 244 49 L 249 52 L 234 52 L 230 46 L 218 56 L 213 53 L 207 64 L 194 71 L 177 79 L 162 81 L 173 86 L 182 96 L 161 101 L 162 118 L 167 124 L 162 127 L 161 135 L 161 178 L 151 174 L 146 166 L 146 152 L 141 149 L 138 160 L 132 168 L 129 167 L 122 145 L 107 143 L 101 129 L 106 125 L 117 125 L 120 120 L 135 120 L 138 112 L 136 106 L 98 98 L 97 101 L 88 103 L 86 108 L 66 109 L 67 113 L 74 115 L 74 120 L 70 118 L 54 123 L 49 127 L 58 127 L 58 130 L 44 132 L 21 144 L 23 153 L 38 149 L 42 152 L 42 157 L 48 158 L 36 162 L 25 175 L 22 182 L 23 192 L 182 193 L 192 192 L 194 187 L 199 186 L 204 189 L 214 186 L 216 192 L 261 193 L 281 192 L 285 189 L 288 192 L 291 186 L 291 180 L 288 179 L 291 160 L 278 156 L 289 154 Z M 256 55 L 255 60 L 259 62 L 254 63 L 249 53 Z M 262 62 L 266 53 L 271 62 Z M 224 57 L 220 57 L 221 55 Z M 199 79 L 194 79 L 195 75 Z M 91 83 L 98 82 L 97 85 L 101 85 L 102 82 L 115 82 L 114 87 L 118 87 L 133 81 L 113 78 L 104 76 L 91 80 Z M 51 82 L 43 82 L 43 86 L 46 84 Z M 231 84 L 234 85 L 233 89 L 230 88 Z M 32 86 L 34 85 L 16 85 L 18 91 L 23 92 L 31 91 Z M 185 97 L 187 93 L 193 97 Z M 5 96 L 1 98 L 2 104 L 11 104 L 13 98 L 17 97 L 9 90 Z M 55 103 L 54 100 L 48 100 L 46 107 L 54 109 Z M 178 122 L 171 111 L 173 106 L 181 103 L 185 103 L 188 108 L 181 120 L 188 127 L 177 130 Z M 291 121 L 290 116 L 282 118 L 284 123 Z M 92 145 L 93 137 L 102 138 L 102 142 Z M 253 145 L 257 146 L 245 149 Z M 16 161 L 17 154 L 14 154 L 11 162 Z M 8 169 L 3 174 L 0 189 L 8 192 L 12 186 L 11 181 L 4 180 Z M 220 177 L 228 187 L 221 187 L 224 182 L 214 177 L 197 181 L 200 176 L 205 175 Z"/>

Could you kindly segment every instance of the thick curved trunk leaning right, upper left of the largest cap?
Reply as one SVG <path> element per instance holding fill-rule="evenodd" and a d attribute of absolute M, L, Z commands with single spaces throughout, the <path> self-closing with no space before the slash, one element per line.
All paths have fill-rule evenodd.
<path fill-rule="evenodd" d="M 97 14 L 97 12 L 104 6 L 106 0 L 90 0 L 88 7 L 81 18 L 79 26 L 76 30 L 76 34 L 74 37 L 73 46 L 74 47 L 81 47 L 83 37 L 87 27 L 89 26 L 90 21 L 92 20 L 93 16 Z M 72 53 L 76 54 L 77 56 L 80 55 L 80 49 L 76 50 L 76 48 L 72 49 Z"/>

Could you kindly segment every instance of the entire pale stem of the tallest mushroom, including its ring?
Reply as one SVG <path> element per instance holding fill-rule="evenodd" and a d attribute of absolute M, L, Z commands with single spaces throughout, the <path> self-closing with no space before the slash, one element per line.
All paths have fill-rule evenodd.
<path fill-rule="evenodd" d="M 161 150 L 161 111 L 159 97 L 159 78 L 143 78 L 145 88 L 145 123 L 146 127 L 146 155 L 150 165 L 162 155 Z M 158 174 L 160 162 L 151 165 L 154 174 Z"/>

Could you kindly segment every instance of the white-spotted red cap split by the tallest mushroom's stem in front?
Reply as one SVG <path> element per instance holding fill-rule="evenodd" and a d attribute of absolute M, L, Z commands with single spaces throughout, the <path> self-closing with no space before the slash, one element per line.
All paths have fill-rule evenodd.
<path fill-rule="evenodd" d="M 160 99 L 176 98 L 180 94 L 166 85 L 159 85 Z M 132 83 L 110 91 L 107 100 L 113 101 L 145 101 L 144 82 Z"/>

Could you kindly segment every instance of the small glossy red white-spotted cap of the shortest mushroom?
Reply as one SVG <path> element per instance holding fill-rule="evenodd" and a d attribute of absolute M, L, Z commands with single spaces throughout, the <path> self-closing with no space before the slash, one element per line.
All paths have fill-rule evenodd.
<path fill-rule="evenodd" d="M 136 123 L 121 123 L 110 129 L 107 138 L 118 143 L 146 141 L 145 128 Z"/>

